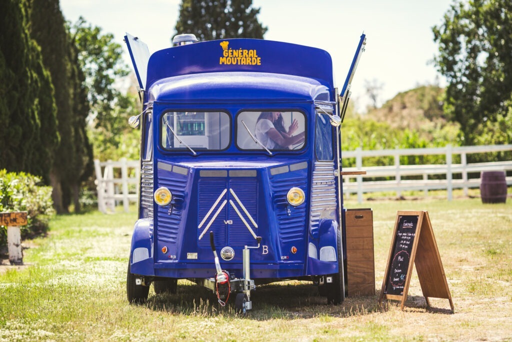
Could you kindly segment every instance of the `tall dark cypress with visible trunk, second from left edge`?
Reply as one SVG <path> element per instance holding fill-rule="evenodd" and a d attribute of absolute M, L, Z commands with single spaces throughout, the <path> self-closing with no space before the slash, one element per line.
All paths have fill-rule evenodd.
<path fill-rule="evenodd" d="M 82 87 L 84 77 L 59 1 L 31 0 L 30 6 L 31 35 L 41 46 L 55 88 L 61 143 L 51 172 L 53 200 L 57 212 L 67 212 L 74 198 L 75 211 L 79 211 L 80 184 L 92 174 L 92 148 L 85 133 L 89 105 Z"/>

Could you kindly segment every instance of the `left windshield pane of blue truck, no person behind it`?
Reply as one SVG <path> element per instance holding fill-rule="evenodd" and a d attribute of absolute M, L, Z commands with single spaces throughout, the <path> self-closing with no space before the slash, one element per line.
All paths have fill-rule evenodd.
<path fill-rule="evenodd" d="M 225 112 L 166 112 L 161 144 L 166 150 L 224 150 L 229 145 L 230 126 Z"/>

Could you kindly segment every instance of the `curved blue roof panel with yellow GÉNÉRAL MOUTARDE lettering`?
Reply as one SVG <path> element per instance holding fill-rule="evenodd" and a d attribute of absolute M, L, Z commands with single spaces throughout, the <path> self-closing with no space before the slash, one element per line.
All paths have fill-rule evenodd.
<path fill-rule="evenodd" d="M 239 82 L 239 85 L 243 77 L 255 81 L 257 74 L 262 73 L 265 74 L 261 78 L 263 83 L 279 74 L 298 76 L 284 77 L 287 80 L 285 83 L 299 82 L 300 78 L 301 82 L 311 84 L 305 80 L 309 78 L 316 81 L 317 85 L 334 89 L 332 59 L 327 51 L 263 39 L 223 39 L 157 51 L 151 55 L 147 64 L 145 89 L 155 88 L 153 84 L 157 82 L 162 84 L 159 81 L 164 78 L 167 83 L 185 82 L 177 76 L 194 74 L 203 74 L 203 79 L 214 79 L 218 84 L 226 82 L 228 87 L 225 76 L 218 78 L 212 73 L 238 75 L 241 78 L 234 79 L 233 82 Z M 200 78 L 193 78 L 198 87 L 202 82 Z"/>

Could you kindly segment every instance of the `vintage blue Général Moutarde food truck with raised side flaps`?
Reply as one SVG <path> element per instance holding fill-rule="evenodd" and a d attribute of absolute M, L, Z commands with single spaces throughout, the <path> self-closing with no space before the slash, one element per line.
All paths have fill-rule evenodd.
<path fill-rule="evenodd" d="M 125 42 L 142 113 L 139 219 L 127 298 L 188 279 L 237 310 L 251 291 L 312 281 L 345 298 L 340 124 L 366 44 L 362 34 L 338 93 L 328 52 L 260 39 L 197 42 L 177 35 L 151 56 Z"/>

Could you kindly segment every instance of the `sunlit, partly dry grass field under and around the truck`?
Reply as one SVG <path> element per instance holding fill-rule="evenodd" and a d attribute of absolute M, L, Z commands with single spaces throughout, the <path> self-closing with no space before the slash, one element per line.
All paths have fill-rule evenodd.
<path fill-rule="evenodd" d="M 208 290 L 181 281 L 178 294 L 127 304 L 127 256 L 135 212 L 58 216 L 50 234 L 25 242 L 31 266 L 0 274 L 0 340 L 512 340 L 512 206 L 480 199 L 346 203 L 371 207 L 380 291 L 397 210 L 428 210 L 454 301 L 425 309 L 411 279 L 403 311 L 378 295 L 328 306 L 309 284 L 254 291 L 245 317 Z"/>

